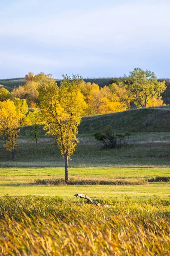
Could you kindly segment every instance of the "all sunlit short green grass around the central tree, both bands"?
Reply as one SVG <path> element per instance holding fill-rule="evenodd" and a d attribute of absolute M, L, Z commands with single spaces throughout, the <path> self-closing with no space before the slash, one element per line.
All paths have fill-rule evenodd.
<path fill-rule="evenodd" d="M 71 168 L 70 179 L 74 180 L 143 180 L 154 177 L 170 177 L 170 169 L 165 168 Z M 0 196 L 3 195 L 43 195 L 73 197 L 76 193 L 88 193 L 95 198 L 122 196 L 147 197 L 170 195 L 169 182 L 144 183 L 137 186 L 41 186 L 37 179 L 63 178 L 63 168 L 1 168 Z M 140 184 L 140 183 L 139 183 Z"/>

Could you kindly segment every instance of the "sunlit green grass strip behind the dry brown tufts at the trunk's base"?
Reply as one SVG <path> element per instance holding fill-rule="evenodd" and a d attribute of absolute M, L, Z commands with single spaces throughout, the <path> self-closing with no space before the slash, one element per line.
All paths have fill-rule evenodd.
<path fill-rule="evenodd" d="M 69 168 L 71 178 L 141 179 L 170 176 L 170 168 L 77 167 Z M 0 168 L 0 185 L 34 183 L 36 179 L 63 178 L 64 168 Z"/>

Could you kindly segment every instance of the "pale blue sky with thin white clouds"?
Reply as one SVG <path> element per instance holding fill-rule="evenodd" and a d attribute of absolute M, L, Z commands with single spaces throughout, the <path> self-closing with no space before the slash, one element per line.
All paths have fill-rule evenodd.
<path fill-rule="evenodd" d="M 0 0 L 0 79 L 170 78 L 169 0 Z"/>

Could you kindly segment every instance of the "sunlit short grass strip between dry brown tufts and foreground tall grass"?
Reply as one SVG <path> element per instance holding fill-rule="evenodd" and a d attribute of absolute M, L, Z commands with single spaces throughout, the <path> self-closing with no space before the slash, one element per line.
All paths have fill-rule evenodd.
<path fill-rule="evenodd" d="M 170 199 L 170 184 L 153 183 L 137 186 L 0 186 L 0 196 L 61 196 L 73 198 L 75 194 L 87 194 L 91 198 L 147 198 L 158 196 Z"/>

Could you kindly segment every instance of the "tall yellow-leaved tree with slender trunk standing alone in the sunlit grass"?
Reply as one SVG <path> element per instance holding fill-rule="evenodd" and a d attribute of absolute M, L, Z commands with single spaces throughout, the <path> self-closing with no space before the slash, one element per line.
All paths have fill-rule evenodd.
<path fill-rule="evenodd" d="M 68 160 L 78 143 L 77 134 L 85 101 L 80 92 L 81 77 L 63 76 L 58 87 L 50 76 L 39 80 L 39 99 L 45 117 L 47 134 L 54 136 L 65 159 L 65 181 L 68 181 Z"/>

